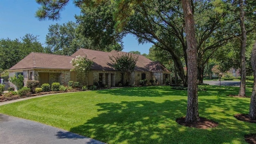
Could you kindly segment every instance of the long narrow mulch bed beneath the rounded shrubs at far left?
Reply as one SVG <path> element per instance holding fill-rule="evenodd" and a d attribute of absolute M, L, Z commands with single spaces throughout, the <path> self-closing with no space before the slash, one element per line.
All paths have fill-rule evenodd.
<path fill-rule="evenodd" d="M 10 101 L 10 100 L 16 100 L 16 99 L 19 99 L 19 98 L 28 98 L 28 97 L 31 97 L 31 96 L 40 96 L 40 95 L 44 95 L 44 94 L 56 94 L 56 93 L 79 92 L 79 91 L 82 91 L 82 90 L 81 90 L 81 89 L 74 89 L 74 90 L 57 91 L 57 92 L 50 91 L 50 92 L 40 92 L 40 93 L 36 93 L 36 94 L 28 93 L 28 94 L 26 94 L 25 96 L 18 96 L 18 95 L 15 95 L 15 96 L 8 96 L 8 97 L 0 96 L 0 102 L 6 102 L 6 101 Z"/>

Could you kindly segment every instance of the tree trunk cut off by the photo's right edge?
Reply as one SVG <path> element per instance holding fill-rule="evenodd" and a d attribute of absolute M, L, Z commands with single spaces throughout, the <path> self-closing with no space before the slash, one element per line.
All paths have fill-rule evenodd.
<path fill-rule="evenodd" d="M 252 120 L 256 120 L 256 41 L 252 48 L 251 65 L 254 75 L 254 83 L 250 102 L 249 118 Z"/>

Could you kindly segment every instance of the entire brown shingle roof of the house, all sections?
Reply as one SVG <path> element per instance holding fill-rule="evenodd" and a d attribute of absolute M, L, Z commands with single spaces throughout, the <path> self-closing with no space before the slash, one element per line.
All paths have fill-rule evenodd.
<path fill-rule="evenodd" d="M 87 58 L 93 59 L 94 64 L 92 65 L 92 70 L 115 70 L 112 67 L 109 57 L 117 56 L 118 54 L 126 54 L 126 52 L 117 52 L 114 50 L 111 52 L 102 52 L 84 48 L 80 48 L 72 54 L 72 56 L 32 52 L 9 70 L 26 68 L 72 69 L 73 66 L 70 61 L 72 58 L 75 58 L 75 56 L 87 56 Z M 152 62 L 142 55 L 135 55 L 139 58 L 136 63 L 135 71 L 168 72 L 167 68 L 160 64 L 160 62 Z"/>

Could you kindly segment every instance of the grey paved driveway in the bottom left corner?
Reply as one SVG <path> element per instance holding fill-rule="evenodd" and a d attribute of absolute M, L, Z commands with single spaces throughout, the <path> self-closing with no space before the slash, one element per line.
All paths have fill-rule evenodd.
<path fill-rule="evenodd" d="M 104 144 L 66 130 L 0 114 L 0 144 Z"/>

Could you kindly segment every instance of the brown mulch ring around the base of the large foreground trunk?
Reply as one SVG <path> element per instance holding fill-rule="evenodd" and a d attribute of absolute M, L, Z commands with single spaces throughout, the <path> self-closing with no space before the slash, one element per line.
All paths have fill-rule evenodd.
<path fill-rule="evenodd" d="M 200 117 L 199 122 L 185 122 L 185 117 L 177 118 L 176 122 L 182 126 L 201 128 L 201 129 L 214 128 L 218 126 L 218 122 L 214 122 L 213 120 L 208 120 L 202 117 Z"/>

